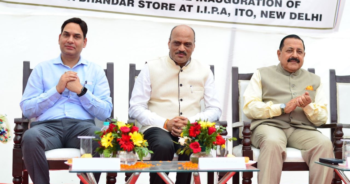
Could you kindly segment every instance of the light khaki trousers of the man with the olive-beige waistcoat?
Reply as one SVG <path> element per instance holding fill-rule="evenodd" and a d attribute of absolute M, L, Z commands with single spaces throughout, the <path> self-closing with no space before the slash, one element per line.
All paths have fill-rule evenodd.
<path fill-rule="evenodd" d="M 302 128 L 281 129 L 260 124 L 252 131 L 252 144 L 260 148 L 258 184 L 279 184 L 282 164 L 287 157 L 286 147 L 301 150 L 309 166 L 310 184 L 330 184 L 333 169 L 316 164 L 319 158 L 334 158 L 330 139 L 316 130 Z"/>

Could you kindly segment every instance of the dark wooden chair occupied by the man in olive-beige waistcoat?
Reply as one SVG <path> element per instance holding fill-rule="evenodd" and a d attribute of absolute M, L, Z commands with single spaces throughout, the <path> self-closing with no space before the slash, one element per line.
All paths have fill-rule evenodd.
<path fill-rule="evenodd" d="M 308 69 L 314 73 L 314 69 Z M 253 73 L 239 74 L 238 67 L 232 67 L 232 136 L 238 138 L 233 142 L 232 154 L 235 156 L 249 157 L 250 160 L 257 161 L 260 149 L 255 148 L 251 142 L 250 120 L 243 113 L 243 93 L 246 89 Z M 335 158 L 342 158 L 342 124 L 323 124 L 316 128 L 333 128 L 331 137 L 334 137 L 333 145 Z M 241 136 L 240 136 L 241 132 Z M 255 163 L 253 166 L 257 166 Z M 309 168 L 303 158 L 301 152 L 295 148 L 287 148 L 287 158 L 283 162 L 282 171 L 308 171 Z M 243 172 L 242 183 L 251 183 L 253 177 L 252 172 Z M 239 183 L 239 174 L 233 176 L 233 183 Z M 333 183 L 341 183 L 339 177 L 334 175 Z"/>

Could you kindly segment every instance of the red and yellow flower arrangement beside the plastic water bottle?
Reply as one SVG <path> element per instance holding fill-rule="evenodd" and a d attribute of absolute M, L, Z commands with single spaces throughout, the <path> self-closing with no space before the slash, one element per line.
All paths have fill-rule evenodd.
<path fill-rule="evenodd" d="M 112 119 L 107 130 L 95 131 L 95 134 L 100 137 L 100 139 L 94 139 L 100 144 L 96 152 L 103 154 L 104 157 L 111 155 L 115 157 L 118 151 L 134 151 L 142 161 L 143 157 L 148 153 L 152 154 L 153 151 L 148 150 L 147 140 L 144 140 L 144 135 L 138 131 L 139 128 L 133 124 Z"/>

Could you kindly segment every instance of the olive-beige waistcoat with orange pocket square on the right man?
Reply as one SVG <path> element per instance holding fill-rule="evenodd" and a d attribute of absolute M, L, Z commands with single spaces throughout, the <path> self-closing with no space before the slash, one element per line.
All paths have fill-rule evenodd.
<path fill-rule="evenodd" d="M 274 104 L 287 103 L 295 97 L 301 96 L 305 91 L 309 92 L 311 103 L 315 101 L 316 89 L 320 86 L 320 77 L 307 70 L 299 69 L 290 74 L 280 64 L 277 66 L 259 68 L 262 86 L 262 101 L 272 101 Z M 307 86 L 313 86 L 314 90 L 306 90 Z M 263 120 L 252 120 L 252 129 L 259 124 L 268 124 L 280 128 L 291 126 L 315 130 L 302 108 L 297 107 L 288 114 L 282 114 Z"/>

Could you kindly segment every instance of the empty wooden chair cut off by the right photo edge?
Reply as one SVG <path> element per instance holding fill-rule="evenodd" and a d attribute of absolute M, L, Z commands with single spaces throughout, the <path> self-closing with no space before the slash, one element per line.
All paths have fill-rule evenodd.
<path fill-rule="evenodd" d="M 330 123 L 342 123 L 343 138 L 350 138 L 350 75 L 335 75 L 335 70 L 329 70 L 329 105 Z M 334 129 L 332 129 L 334 131 Z M 331 136 L 331 140 L 334 138 Z"/>

